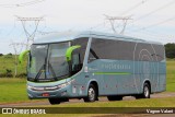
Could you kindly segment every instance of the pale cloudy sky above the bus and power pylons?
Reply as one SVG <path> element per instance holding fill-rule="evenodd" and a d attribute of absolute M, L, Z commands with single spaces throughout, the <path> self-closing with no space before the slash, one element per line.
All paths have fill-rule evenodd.
<path fill-rule="evenodd" d="M 12 44 L 26 43 L 20 17 L 43 17 L 35 38 L 66 31 L 115 33 L 105 15 L 129 17 L 124 35 L 175 43 L 175 0 L 0 0 L 0 54 L 14 54 Z M 120 33 L 124 22 L 114 22 Z M 25 22 L 32 34 L 35 22 Z M 25 49 L 15 45 L 16 52 Z"/>

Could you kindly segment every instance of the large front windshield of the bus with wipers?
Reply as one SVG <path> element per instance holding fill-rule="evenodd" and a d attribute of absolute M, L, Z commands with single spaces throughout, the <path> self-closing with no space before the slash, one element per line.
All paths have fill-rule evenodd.
<path fill-rule="evenodd" d="M 33 45 L 28 59 L 30 81 L 56 81 L 69 75 L 66 50 L 70 43 Z"/>

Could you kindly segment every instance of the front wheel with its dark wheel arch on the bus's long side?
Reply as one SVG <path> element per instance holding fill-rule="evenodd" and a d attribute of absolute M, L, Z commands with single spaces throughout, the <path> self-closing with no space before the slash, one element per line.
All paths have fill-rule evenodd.
<path fill-rule="evenodd" d="M 94 97 L 91 98 L 90 95 L 92 93 L 93 93 L 92 96 L 94 96 Z M 88 87 L 88 96 L 84 97 L 83 100 L 84 100 L 84 102 L 95 102 L 98 100 L 97 97 L 98 97 L 98 84 L 96 81 L 91 81 L 89 83 L 89 87 Z"/>

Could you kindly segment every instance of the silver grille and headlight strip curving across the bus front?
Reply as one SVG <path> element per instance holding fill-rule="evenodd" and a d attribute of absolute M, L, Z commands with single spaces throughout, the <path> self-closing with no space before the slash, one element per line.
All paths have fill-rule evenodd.
<path fill-rule="evenodd" d="M 69 82 L 66 82 L 66 83 L 62 83 L 62 84 L 59 84 L 59 85 L 55 85 L 55 86 L 40 86 L 39 87 L 39 86 L 27 85 L 27 89 L 33 90 L 33 91 L 54 91 L 54 90 L 62 89 L 62 87 L 71 84 L 72 82 L 74 82 L 74 79 L 70 80 Z"/>

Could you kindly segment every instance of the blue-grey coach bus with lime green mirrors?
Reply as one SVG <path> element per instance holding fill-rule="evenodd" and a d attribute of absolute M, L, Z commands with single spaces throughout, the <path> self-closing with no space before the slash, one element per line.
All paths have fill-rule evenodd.
<path fill-rule="evenodd" d="M 28 98 L 60 104 L 150 98 L 166 89 L 165 49 L 161 43 L 101 32 L 67 32 L 36 39 L 28 54 Z"/>

